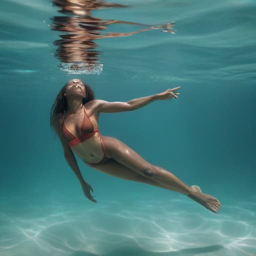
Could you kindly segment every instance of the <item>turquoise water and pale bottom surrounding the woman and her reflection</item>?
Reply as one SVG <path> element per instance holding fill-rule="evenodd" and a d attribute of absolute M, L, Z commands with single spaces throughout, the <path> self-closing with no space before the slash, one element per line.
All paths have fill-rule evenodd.
<path fill-rule="evenodd" d="M 63 71 L 54 56 L 61 16 L 50 1 L 0 8 L 0 255 L 256 255 L 255 12 L 253 0 L 118 0 L 101 19 L 159 29 L 96 40 L 94 73 Z M 109 32 L 143 26 L 113 24 Z M 63 34 L 63 33 L 62 33 Z M 197 184 L 222 204 L 214 214 L 173 191 L 121 180 L 78 163 L 86 199 L 49 127 L 59 89 L 80 78 L 108 101 L 181 85 L 179 98 L 101 114 L 99 128 Z"/>

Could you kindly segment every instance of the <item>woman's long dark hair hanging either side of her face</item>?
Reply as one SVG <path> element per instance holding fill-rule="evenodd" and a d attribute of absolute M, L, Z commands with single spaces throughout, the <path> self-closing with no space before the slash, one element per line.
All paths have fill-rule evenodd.
<path fill-rule="evenodd" d="M 88 101 L 94 99 L 95 96 L 94 96 L 94 92 L 93 92 L 92 88 L 88 84 L 84 83 L 83 81 L 81 81 L 81 82 L 86 90 L 86 96 L 85 96 L 85 98 L 82 99 L 82 104 L 85 104 Z M 64 95 L 64 93 L 65 93 L 65 86 L 67 85 L 67 83 L 58 92 L 58 94 L 54 100 L 54 103 L 52 104 L 51 109 L 50 109 L 50 126 L 53 128 L 54 128 L 54 126 L 52 125 L 53 120 L 57 120 L 58 122 L 60 121 L 59 124 L 60 124 L 60 126 L 62 126 L 64 119 L 66 117 L 67 99 L 66 99 L 66 96 Z"/>

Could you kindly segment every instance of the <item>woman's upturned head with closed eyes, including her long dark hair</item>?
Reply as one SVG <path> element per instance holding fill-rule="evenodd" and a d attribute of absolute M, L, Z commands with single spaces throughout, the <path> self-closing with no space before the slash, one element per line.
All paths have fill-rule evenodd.
<path fill-rule="evenodd" d="M 95 98 L 94 92 L 89 85 L 82 82 L 80 79 L 69 80 L 60 89 L 51 106 L 50 125 L 52 125 L 53 118 L 56 118 L 57 120 L 64 120 L 68 106 L 67 97 L 80 98 L 82 104 L 85 104 Z"/>

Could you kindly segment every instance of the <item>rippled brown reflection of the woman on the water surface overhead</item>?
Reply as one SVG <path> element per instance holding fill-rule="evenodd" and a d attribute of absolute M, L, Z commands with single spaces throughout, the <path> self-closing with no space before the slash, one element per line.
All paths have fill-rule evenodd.
<path fill-rule="evenodd" d="M 53 16 L 51 30 L 63 31 L 61 39 L 55 40 L 57 46 L 54 55 L 61 61 L 61 70 L 68 73 L 100 73 L 102 64 L 99 63 L 99 53 L 95 39 L 122 37 L 142 31 L 161 29 L 162 32 L 174 33 L 174 22 L 163 25 L 146 25 L 136 22 L 115 19 L 103 20 L 91 16 L 91 11 L 107 7 L 127 7 L 123 4 L 108 3 L 103 0 L 52 0 L 52 3 L 61 8 L 60 13 L 69 16 Z M 145 28 L 125 33 L 100 31 L 107 29 L 107 25 L 124 23 L 145 26 Z"/>

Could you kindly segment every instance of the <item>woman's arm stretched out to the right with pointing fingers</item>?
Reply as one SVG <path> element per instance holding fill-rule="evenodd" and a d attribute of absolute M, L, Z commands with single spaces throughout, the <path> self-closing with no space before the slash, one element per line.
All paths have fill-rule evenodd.
<path fill-rule="evenodd" d="M 145 106 L 155 100 L 177 98 L 177 94 L 179 94 L 179 93 L 174 92 L 174 91 L 179 88 L 180 88 L 180 86 L 176 87 L 176 88 L 172 88 L 172 89 L 167 89 L 161 93 L 157 93 L 154 95 L 140 97 L 140 98 L 134 98 L 127 102 L 119 102 L 119 101 L 108 102 L 105 100 L 96 100 L 97 101 L 96 110 L 98 112 L 103 112 L 103 113 L 135 110 L 135 109 Z"/>

